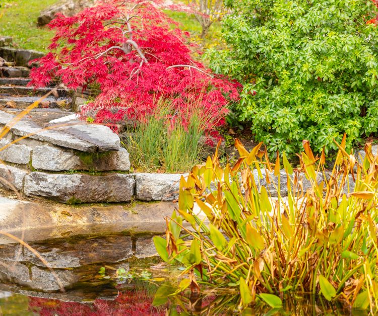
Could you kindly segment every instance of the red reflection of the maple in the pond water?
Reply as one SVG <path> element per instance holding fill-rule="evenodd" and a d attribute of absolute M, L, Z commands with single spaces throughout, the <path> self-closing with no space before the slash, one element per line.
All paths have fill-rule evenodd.
<path fill-rule="evenodd" d="M 120 292 L 114 300 L 96 299 L 92 303 L 63 302 L 57 299 L 29 297 L 29 308 L 42 316 L 120 316 L 164 315 L 152 306 L 152 297 L 143 292 Z"/>

